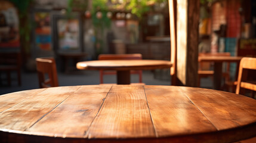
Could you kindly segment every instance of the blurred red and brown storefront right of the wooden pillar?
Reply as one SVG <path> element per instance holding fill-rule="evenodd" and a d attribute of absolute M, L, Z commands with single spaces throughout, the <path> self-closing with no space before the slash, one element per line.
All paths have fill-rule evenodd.
<path fill-rule="evenodd" d="M 220 0 L 201 4 L 199 52 L 256 57 L 256 1 Z M 235 76 L 236 64 L 230 65 Z"/>

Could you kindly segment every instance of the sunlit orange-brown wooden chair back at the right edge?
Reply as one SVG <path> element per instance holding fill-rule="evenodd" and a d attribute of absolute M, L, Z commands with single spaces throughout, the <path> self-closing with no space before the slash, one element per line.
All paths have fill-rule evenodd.
<path fill-rule="evenodd" d="M 256 91 L 256 83 L 246 82 L 248 79 L 248 70 L 256 70 L 256 58 L 244 57 L 240 61 L 238 73 L 238 85 L 236 86 L 236 94 L 244 94 L 243 89 Z M 254 74 L 255 75 L 255 74 Z"/>

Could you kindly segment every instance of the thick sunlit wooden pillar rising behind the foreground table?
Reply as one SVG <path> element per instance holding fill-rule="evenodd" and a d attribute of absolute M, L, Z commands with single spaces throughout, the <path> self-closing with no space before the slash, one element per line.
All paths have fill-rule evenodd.
<path fill-rule="evenodd" d="M 169 0 L 171 52 L 175 52 L 171 61 L 177 68 L 175 74 L 171 73 L 177 76 L 172 85 L 197 86 L 199 9 L 199 0 Z"/>

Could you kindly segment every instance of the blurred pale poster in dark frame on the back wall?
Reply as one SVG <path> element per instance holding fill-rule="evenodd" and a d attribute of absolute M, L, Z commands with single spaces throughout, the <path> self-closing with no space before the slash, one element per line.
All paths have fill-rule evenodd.
<path fill-rule="evenodd" d="M 53 14 L 53 46 L 55 51 L 60 52 L 82 52 L 83 30 L 82 20 L 79 13 Z"/>

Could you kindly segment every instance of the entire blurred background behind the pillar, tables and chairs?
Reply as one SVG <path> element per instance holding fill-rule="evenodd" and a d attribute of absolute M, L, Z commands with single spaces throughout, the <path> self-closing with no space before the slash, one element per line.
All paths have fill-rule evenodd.
<path fill-rule="evenodd" d="M 200 0 L 198 27 L 199 52 L 255 57 L 255 1 Z M 19 54 L 16 63 L 21 83 L 16 82 L 15 71 L 11 78 L 16 81 L 11 85 L 5 80 L 5 71 L 0 71 L 0 90 L 7 93 L 38 88 L 37 57 L 55 58 L 63 81 L 60 85 L 98 84 L 98 74 L 78 71 L 75 63 L 97 60 L 99 54 L 140 53 L 143 59 L 170 60 L 169 35 L 168 0 L 1 0 L 1 57 L 10 52 Z M 235 69 L 235 64 L 230 66 L 233 77 Z M 92 77 L 92 73 L 95 77 L 87 80 L 90 82 L 72 83 L 78 81 L 72 81 L 72 76 Z M 144 74 L 150 77 L 145 76 L 143 82 L 152 77 L 158 82 L 148 84 L 170 85 L 169 70 Z M 69 84 L 64 83 L 62 78 L 68 77 Z M 204 80 L 203 87 L 211 86 Z"/>

